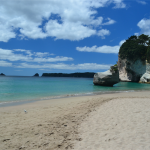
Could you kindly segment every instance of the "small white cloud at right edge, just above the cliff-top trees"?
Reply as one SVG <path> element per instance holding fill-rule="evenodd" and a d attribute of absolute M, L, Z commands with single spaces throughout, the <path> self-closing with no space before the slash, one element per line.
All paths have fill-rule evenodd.
<path fill-rule="evenodd" d="M 150 19 L 142 19 L 137 26 L 141 29 L 141 33 L 150 36 Z"/>

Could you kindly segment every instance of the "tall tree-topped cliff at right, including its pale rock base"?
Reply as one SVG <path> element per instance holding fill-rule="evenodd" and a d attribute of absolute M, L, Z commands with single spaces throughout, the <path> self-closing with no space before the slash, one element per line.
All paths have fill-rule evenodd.
<path fill-rule="evenodd" d="M 131 36 L 119 50 L 118 70 L 121 81 L 149 82 L 150 37 Z"/>

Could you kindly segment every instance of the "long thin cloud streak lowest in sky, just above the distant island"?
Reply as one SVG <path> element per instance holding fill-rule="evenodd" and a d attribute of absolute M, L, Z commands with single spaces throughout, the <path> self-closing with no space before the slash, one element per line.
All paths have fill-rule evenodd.
<path fill-rule="evenodd" d="M 104 64 L 96 64 L 96 63 L 84 63 L 84 64 L 27 64 L 21 63 L 16 68 L 38 68 L 38 69 L 62 69 L 62 70 L 104 70 L 109 69 L 111 65 L 104 65 Z"/>

